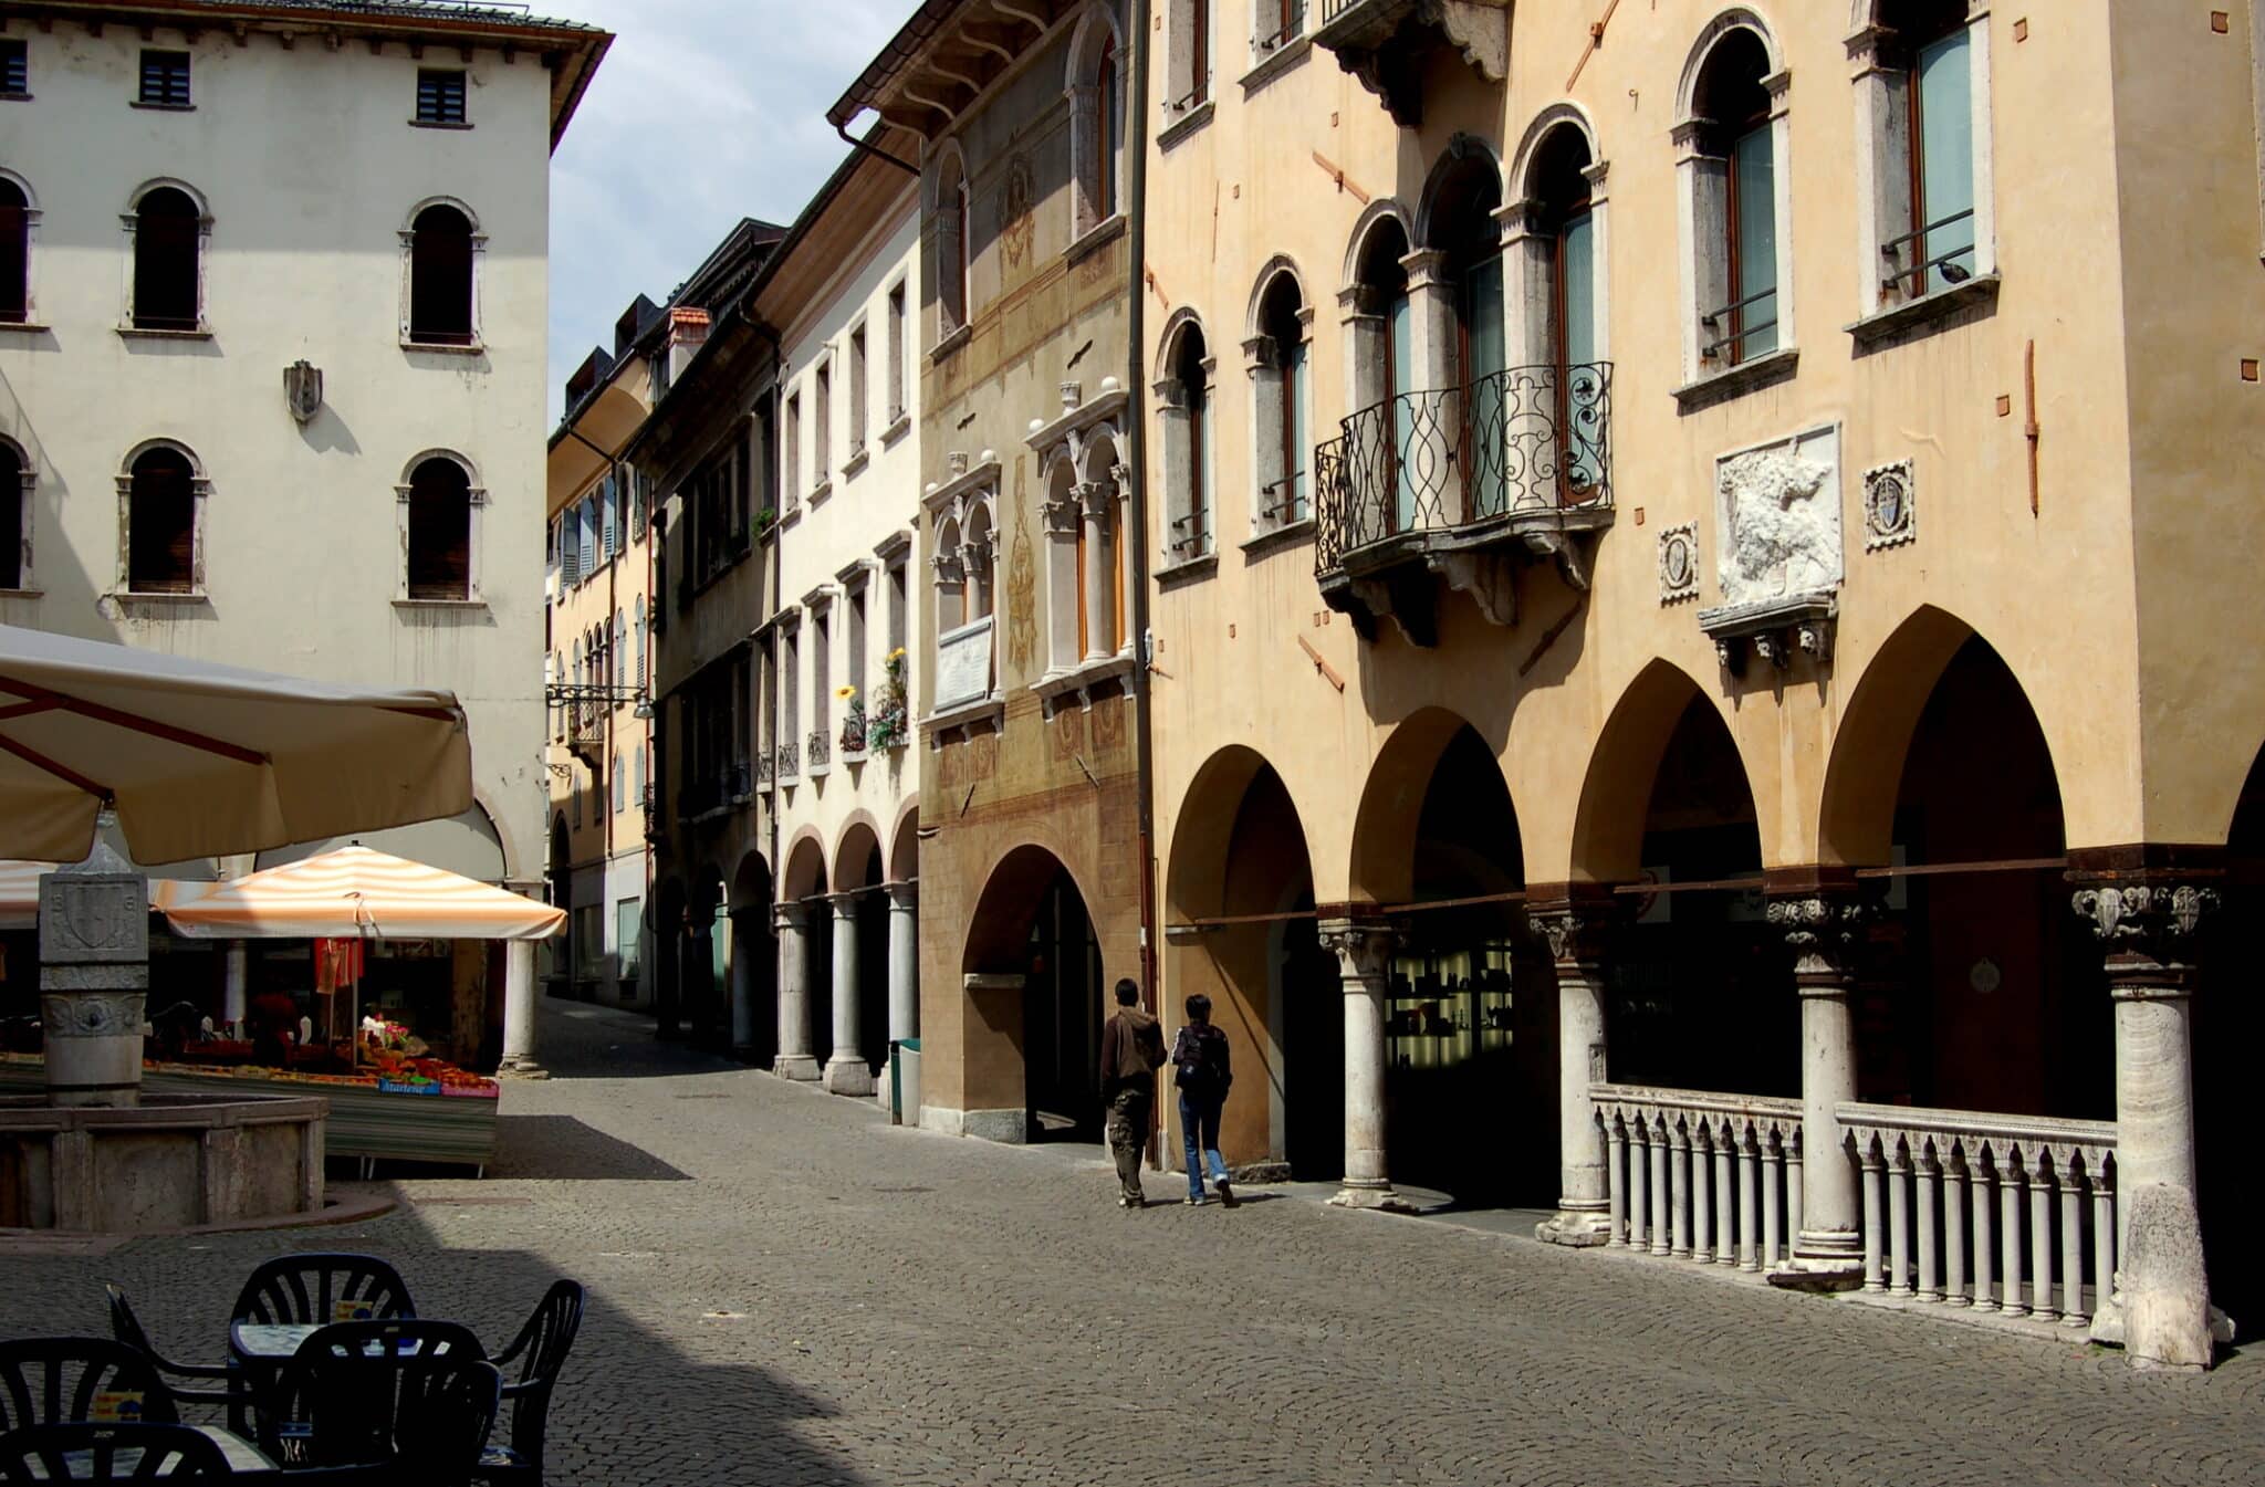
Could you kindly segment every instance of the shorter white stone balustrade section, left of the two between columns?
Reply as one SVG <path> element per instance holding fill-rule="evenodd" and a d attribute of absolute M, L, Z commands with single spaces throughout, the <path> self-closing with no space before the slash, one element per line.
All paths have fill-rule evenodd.
<path fill-rule="evenodd" d="M 1764 1270 L 1801 1231 L 1801 1100 L 1590 1084 L 1613 1247 Z"/>

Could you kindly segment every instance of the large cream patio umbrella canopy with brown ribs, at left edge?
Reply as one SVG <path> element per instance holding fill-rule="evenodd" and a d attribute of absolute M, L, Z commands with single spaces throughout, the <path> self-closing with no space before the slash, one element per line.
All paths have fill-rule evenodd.
<path fill-rule="evenodd" d="M 471 806 L 455 697 L 0 625 L 0 856 L 79 862 L 111 808 L 143 862 L 265 851 Z"/>

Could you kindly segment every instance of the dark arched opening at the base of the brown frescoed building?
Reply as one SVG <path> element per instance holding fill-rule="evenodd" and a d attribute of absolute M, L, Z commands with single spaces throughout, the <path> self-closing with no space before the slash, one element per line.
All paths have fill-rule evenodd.
<path fill-rule="evenodd" d="M 1024 1138 L 1099 1141 L 1101 942 L 1060 858 L 1026 844 L 999 860 L 969 921 L 963 975 L 969 1018 L 1010 1032 L 1019 1055 Z M 967 1082 L 969 1107 L 1006 1104 L 1012 1071 L 972 1066 Z"/>

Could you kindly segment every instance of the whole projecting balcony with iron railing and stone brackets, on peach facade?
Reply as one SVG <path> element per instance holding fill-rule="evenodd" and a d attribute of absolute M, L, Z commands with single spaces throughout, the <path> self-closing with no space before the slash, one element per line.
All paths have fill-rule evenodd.
<path fill-rule="evenodd" d="M 1554 561 L 1588 588 L 1613 525 L 1613 369 L 1511 367 L 1468 387 L 1407 392 L 1343 421 L 1314 450 L 1314 577 L 1375 638 L 1438 636 L 1438 584 L 1518 622 L 1515 570 Z"/>

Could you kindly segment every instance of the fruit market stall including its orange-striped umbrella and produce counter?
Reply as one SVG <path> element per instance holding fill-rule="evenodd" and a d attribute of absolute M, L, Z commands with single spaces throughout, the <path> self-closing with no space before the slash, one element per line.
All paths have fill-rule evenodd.
<path fill-rule="evenodd" d="M 152 1082 L 315 1084 L 331 1098 L 333 1157 L 494 1157 L 496 1082 L 464 1068 L 501 987 L 489 946 L 546 939 L 564 910 L 342 846 L 215 885 L 165 919 L 188 939 L 283 942 L 288 960 L 263 960 L 242 1025 L 213 1028 Z"/>

